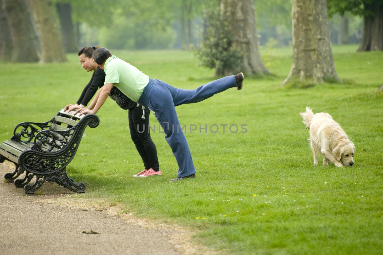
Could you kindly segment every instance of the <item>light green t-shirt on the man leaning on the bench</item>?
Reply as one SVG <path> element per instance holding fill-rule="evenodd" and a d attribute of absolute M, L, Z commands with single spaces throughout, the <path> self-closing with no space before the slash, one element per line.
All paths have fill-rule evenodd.
<path fill-rule="evenodd" d="M 138 101 L 147 83 L 149 83 L 149 76 L 114 55 L 106 59 L 104 70 L 104 84 L 113 83 L 134 102 Z"/>

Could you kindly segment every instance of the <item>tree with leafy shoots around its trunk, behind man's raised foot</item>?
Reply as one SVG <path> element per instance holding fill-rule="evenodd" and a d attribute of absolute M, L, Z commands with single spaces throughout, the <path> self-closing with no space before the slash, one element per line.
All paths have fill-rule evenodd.
<path fill-rule="evenodd" d="M 206 11 L 205 40 L 196 49 L 200 64 L 215 75 L 267 74 L 258 51 L 252 0 L 221 0 Z"/>

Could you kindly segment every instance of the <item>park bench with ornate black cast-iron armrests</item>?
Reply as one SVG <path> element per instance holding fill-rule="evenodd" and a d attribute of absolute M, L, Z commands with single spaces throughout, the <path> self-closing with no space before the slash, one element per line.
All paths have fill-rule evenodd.
<path fill-rule="evenodd" d="M 44 181 L 84 193 L 85 184 L 69 178 L 65 167 L 76 154 L 85 128 L 97 127 L 98 123 L 95 114 L 79 116 L 63 109 L 47 122 L 18 124 L 11 139 L 0 144 L 0 163 L 9 160 L 16 165 L 15 171 L 4 178 L 13 182 L 25 172 L 24 178 L 14 181 L 16 187 L 24 187 L 25 195 L 36 195 Z M 34 177 L 35 182 L 29 184 Z"/>

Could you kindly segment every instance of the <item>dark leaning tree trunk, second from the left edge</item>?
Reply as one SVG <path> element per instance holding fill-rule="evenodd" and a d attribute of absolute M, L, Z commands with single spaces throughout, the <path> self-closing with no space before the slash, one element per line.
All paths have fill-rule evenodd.
<path fill-rule="evenodd" d="M 11 62 L 39 61 L 37 36 L 26 3 L 24 0 L 2 0 L 2 3 L 13 44 Z"/>

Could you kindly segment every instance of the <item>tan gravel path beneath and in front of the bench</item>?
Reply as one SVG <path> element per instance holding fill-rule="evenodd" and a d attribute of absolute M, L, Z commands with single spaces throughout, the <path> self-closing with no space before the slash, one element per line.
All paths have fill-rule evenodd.
<path fill-rule="evenodd" d="M 56 183 L 24 196 L 24 189 L 3 181 L 13 168 L 0 163 L 0 254 L 213 254 L 197 251 L 186 240 L 191 234 L 178 227 L 95 208 L 82 198 L 70 203 L 73 193 Z"/>

